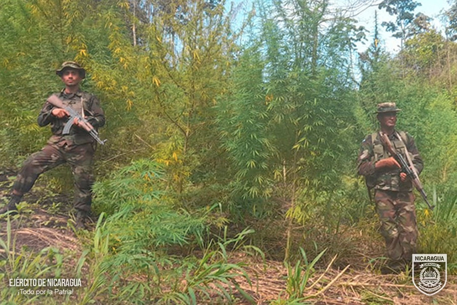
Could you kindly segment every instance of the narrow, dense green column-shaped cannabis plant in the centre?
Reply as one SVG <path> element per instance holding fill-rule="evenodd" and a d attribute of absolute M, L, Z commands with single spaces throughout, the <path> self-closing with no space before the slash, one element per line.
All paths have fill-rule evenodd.
<path fill-rule="evenodd" d="M 255 50 L 245 54 L 234 71 L 234 92 L 217 107 L 217 122 L 234 169 L 229 210 L 234 214 L 247 210 L 260 216 L 269 210 L 264 204 L 271 195 L 268 159 L 274 147 L 266 129 L 268 112 L 260 54 Z"/>

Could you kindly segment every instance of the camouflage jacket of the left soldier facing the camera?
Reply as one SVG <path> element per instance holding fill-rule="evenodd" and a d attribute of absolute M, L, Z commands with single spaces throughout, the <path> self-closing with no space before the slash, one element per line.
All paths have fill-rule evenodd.
<path fill-rule="evenodd" d="M 84 107 L 85 118 L 94 128 L 97 129 L 105 124 L 105 114 L 100 107 L 100 102 L 92 94 L 84 91 L 68 94 L 65 93 L 63 89 L 56 93 L 56 95 L 62 100 L 64 105 L 73 108 L 78 113 L 82 113 Z M 69 134 L 62 135 L 64 125 L 69 118 L 57 118 L 53 116 L 51 112 L 54 108 L 57 107 L 46 102 L 38 115 L 38 125 L 46 126 L 51 124 L 53 135 L 48 140 L 48 143 L 58 145 L 80 145 L 95 142 L 87 131 L 75 125 L 71 127 Z"/>

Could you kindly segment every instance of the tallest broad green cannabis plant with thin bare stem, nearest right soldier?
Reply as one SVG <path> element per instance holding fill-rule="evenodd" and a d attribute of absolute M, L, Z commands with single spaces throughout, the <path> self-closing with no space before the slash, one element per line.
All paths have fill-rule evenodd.
<path fill-rule="evenodd" d="M 241 194 L 233 199 L 251 203 L 244 208 L 255 216 L 287 210 L 287 259 L 293 224 L 312 211 L 331 213 L 351 146 L 349 55 L 364 29 L 328 4 L 257 6 L 260 37 L 240 59 L 225 105 L 223 139 L 239 181 L 234 193 Z"/>

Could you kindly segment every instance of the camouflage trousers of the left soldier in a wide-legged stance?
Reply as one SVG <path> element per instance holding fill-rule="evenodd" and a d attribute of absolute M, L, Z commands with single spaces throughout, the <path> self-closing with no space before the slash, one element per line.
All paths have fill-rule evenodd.
<path fill-rule="evenodd" d="M 71 146 L 47 144 L 24 162 L 13 184 L 13 191 L 18 194 L 27 193 L 40 174 L 67 162 L 74 176 L 74 207 L 90 211 L 94 183 L 93 156 L 94 148 L 90 143 Z"/>

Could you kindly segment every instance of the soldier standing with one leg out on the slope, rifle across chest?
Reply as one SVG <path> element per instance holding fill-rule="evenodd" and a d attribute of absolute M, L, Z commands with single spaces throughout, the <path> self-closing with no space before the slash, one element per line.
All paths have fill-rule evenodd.
<path fill-rule="evenodd" d="M 65 88 L 56 93 L 64 105 L 83 113 L 94 128 L 102 127 L 105 124 L 105 115 L 100 102 L 92 94 L 80 90 L 79 84 L 85 78 L 85 70 L 79 64 L 69 61 L 64 62 L 60 69 L 56 70 L 56 74 L 65 84 Z M 76 225 L 84 226 L 85 218 L 90 211 L 96 142 L 80 126 L 77 118 L 74 119 L 70 133 L 62 135 L 68 116 L 69 113 L 65 109 L 55 107 L 49 102 L 44 104 L 38 115 L 38 125 L 43 127 L 51 124 L 53 135 L 41 151 L 32 154 L 24 162 L 13 184 L 10 202 L 0 210 L 1 214 L 16 210 L 16 203 L 19 203 L 22 195 L 32 188 L 40 174 L 67 162 L 74 175 Z"/>

